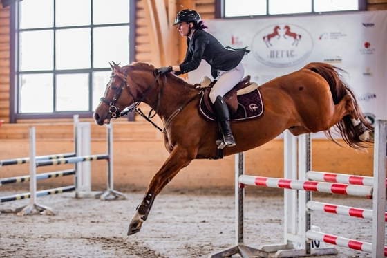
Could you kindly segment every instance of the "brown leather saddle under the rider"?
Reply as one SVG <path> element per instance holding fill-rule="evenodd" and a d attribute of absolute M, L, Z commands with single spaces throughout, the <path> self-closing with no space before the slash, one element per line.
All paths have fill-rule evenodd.
<path fill-rule="evenodd" d="M 250 82 L 251 76 L 247 75 L 243 78 L 238 84 L 234 86 L 234 88 L 231 89 L 231 91 L 227 92 L 223 96 L 223 100 L 225 100 L 227 107 L 229 107 L 229 113 L 232 115 L 236 112 L 238 109 L 238 95 L 243 95 L 250 93 L 254 91 L 255 89 L 258 89 L 258 84 L 255 82 Z M 202 80 L 200 80 L 200 85 L 196 86 L 197 89 L 202 89 L 203 94 L 203 100 L 205 102 L 205 105 L 210 113 L 214 113 L 212 109 L 212 102 L 209 99 L 209 92 L 211 91 L 212 86 L 216 83 L 216 80 L 211 82 L 211 79 L 209 77 L 204 76 L 202 77 Z"/>

